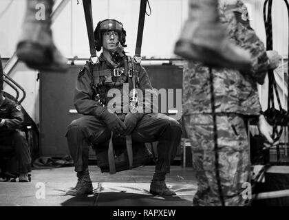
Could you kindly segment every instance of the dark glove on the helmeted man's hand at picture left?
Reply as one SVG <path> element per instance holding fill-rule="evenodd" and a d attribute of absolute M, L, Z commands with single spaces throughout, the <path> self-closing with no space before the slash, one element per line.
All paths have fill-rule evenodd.
<path fill-rule="evenodd" d="M 101 113 L 100 117 L 103 118 L 109 130 L 116 134 L 123 133 L 127 129 L 125 124 L 118 118 L 118 115 L 110 113 L 107 109 Z"/>

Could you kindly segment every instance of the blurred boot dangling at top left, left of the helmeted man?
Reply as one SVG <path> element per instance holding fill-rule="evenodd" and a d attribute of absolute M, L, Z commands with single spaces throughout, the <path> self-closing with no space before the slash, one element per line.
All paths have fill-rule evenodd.
<path fill-rule="evenodd" d="M 17 56 L 32 69 L 65 72 L 67 60 L 54 45 L 51 30 L 53 0 L 28 0 Z"/>

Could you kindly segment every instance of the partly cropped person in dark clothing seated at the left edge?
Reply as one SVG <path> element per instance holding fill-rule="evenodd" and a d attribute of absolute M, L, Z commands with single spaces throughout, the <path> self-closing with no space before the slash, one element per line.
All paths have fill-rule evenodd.
<path fill-rule="evenodd" d="M 17 102 L 3 95 L 3 68 L 0 57 L 0 154 L 4 146 L 11 146 L 19 164 L 19 181 L 30 181 L 31 156 L 25 135 L 21 128 L 24 116 Z M 2 149 L 1 149 L 2 148 Z"/>

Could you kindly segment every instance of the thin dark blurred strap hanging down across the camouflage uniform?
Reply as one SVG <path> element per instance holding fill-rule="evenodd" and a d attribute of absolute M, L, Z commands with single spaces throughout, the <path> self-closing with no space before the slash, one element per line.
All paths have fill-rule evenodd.
<path fill-rule="evenodd" d="M 212 108 L 212 115 L 213 115 L 213 138 L 214 138 L 214 144 L 215 144 L 215 173 L 217 178 L 217 187 L 219 190 L 220 195 L 220 201 L 222 203 L 222 206 L 225 206 L 224 196 L 222 192 L 222 186 L 221 186 L 221 179 L 220 179 L 220 171 L 219 171 L 219 153 L 217 151 L 217 118 L 215 113 L 215 94 L 214 94 L 214 76 L 212 68 L 210 67 L 210 87 L 211 87 L 211 108 Z"/>

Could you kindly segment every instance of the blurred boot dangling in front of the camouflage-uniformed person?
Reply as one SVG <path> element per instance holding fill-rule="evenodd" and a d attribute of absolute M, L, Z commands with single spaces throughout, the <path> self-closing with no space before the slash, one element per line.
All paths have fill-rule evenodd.
<path fill-rule="evenodd" d="M 217 0 L 190 0 L 189 19 L 184 24 L 175 54 L 213 67 L 250 69 L 250 53 L 230 43 L 220 23 Z"/>

